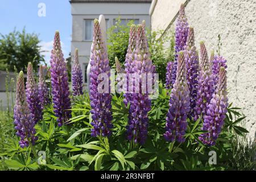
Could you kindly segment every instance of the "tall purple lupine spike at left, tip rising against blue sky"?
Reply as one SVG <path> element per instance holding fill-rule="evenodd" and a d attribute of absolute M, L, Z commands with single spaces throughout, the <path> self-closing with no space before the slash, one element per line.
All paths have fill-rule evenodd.
<path fill-rule="evenodd" d="M 67 123 L 71 118 L 71 101 L 69 98 L 68 71 L 60 45 L 60 34 L 55 32 L 53 49 L 51 51 L 51 84 L 52 101 L 58 126 Z"/>

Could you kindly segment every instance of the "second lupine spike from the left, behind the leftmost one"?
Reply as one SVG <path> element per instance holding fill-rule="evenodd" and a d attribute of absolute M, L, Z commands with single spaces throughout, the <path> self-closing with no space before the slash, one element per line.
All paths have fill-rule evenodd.
<path fill-rule="evenodd" d="M 38 93 L 38 85 L 35 82 L 32 64 L 27 65 L 27 82 L 26 82 L 26 96 L 28 107 L 33 114 L 35 124 L 43 118 L 42 106 L 40 104 L 40 97 Z"/>

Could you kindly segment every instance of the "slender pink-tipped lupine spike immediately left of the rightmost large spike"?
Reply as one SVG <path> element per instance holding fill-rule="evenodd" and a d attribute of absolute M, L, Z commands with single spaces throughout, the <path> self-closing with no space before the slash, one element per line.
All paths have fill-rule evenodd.
<path fill-rule="evenodd" d="M 200 116 L 204 118 L 204 115 L 207 113 L 207 105 L 210 103 L 214 92 L 212 67 L 209 63 L 208 53 L 204 42 L 200 43 L 200 55 L 201 62 L 197 86 L 195 120 Z"/>

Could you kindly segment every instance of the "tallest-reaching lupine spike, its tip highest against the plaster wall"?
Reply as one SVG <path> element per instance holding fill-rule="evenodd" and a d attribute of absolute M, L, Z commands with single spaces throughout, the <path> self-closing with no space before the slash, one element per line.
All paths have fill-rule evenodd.
<path fill-rule="evenodd" d="M 174 67 L 172 68 L 172 84 L 176 80 L 177 72 L 177 57 L 180 51 L 185 49 L 188 38 L 188 22 L 185 15 L 185 5 L 181 4 L 179 16 L 177 17 L 176 28 L 175 28 L 175 61 Z"/>

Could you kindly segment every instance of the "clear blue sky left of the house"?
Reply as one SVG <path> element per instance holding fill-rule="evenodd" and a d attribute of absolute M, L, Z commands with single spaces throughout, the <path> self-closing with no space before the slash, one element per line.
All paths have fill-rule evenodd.
<path fill-rule="evenodd" d="M 43 13 L 39 3 L 46 6 L 46 16 L 39 16 Z M 41 6 L 42 7 L 42 6 Z M 71 5 L 68 0 L 0 0 L 0 33 L 8 34 L 10 31 L 22 30 L 39 34 L 40 46 L 47 63 L 52 49 L 52 40 L 56 30 L 60 32 L 60 39 L 63 46 L 65 58 L 71 49 L 72 16 Z"/>

